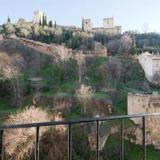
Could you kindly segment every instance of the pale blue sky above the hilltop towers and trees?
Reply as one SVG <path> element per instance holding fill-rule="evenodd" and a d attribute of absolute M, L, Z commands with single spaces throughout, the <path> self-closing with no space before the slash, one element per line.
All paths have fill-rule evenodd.
<path fill-rule="evenodd" d="M 0 24 L 8 16 L 12 21 L 32 20 L 37 9 L 61 25 L 81 26 L 83 17 L 100 27 L 104 17 L 113 16 L 123 31 L 160 33 L 160 0 L 0 0 Z"/>

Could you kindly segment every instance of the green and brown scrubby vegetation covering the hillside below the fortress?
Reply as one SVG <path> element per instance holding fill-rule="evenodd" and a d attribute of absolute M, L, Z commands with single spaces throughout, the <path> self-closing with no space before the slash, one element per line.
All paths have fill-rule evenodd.
<path fill-rule="evenodd" d="M 25 39 L 7 37 L 0 41 L 1 123 L 6 123 L 11 113 L 15 113 L 16 117 L 19 113 L 17 111 L 23 111 L 25 106 L 31 105 L 45 109 L 51 120 L 55 120 L 57 115 L 61 115 L 60 117 L 65 120 L 75 120 L 127 114 L 128 92 L 151 93 L 159 90 L 146 80 L 136 56 L 133 56 L 136 48 L 133 47 L 133 37 L 129 34 L 120 35 L 115 39 L 107 35 L 92 37 L 88 33 L 75 34 L 75 31 L 62 30 L 56 38 L 51 33 L 38 34 L 35 37 L 35 33 L 31 34 L 32 36 L 19 35 L 16 26 L 12 27 L 13 33 L 16 32 L 17 36 L 31 41 L 29 44 L 24 43 L 27 41 Z M 44 26 L 40 28 L 44 31 Z M 61 39 L 62 37 L 64 39 Z M 112 56 L 106 55 L 106 46 Z M 142 49 L 142 46 L 138 44 L 137 46 Z M 106 144 L 100 151 L 101 159 L 119 157 L 117 126 L 119 126 L 117 121 L 100 126 L 102 139 L 112 130 L 115 129 L 116 132 L 107 135 Z M 126 127 L 130 126 L 134 124 L 131 121 L 126 122 Z M 74 159 L 94 159 L 94 133 L 95 124 L 73 127 Z M 55 142 L 56 147 L 49 139 Z M 67 156 L 65 140 L 66 133 L 60 134 L 54 128 L 48 129 L 41 139 L 43 144 L 40 148 L 41 157 L 46 159 L 45 155 L 50 157 L 55 155 L 58 160 L 65 159 Z M 125 154 L 126 160 L 133 159 L 132 149 L 136 152 L 142 148 L 129 141 L 125 141 L 125 147 L 128 151 Z M 149 160 L 153 159 L 152 155 L 155 158 L 159 156 L 159 152 L 152 146 L 149 146 L 149 150 Z M 29 153 L 32 157 L 32 151 Z"/>

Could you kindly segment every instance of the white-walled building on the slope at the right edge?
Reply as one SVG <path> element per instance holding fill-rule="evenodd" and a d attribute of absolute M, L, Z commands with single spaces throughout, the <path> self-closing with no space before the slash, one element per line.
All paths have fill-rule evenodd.
<path fill-rule="evenodd" d="M 152 81 L 153 76 L 160 72 L 160 55 L 144 52 L 138 56 L 138 60 L 145 72 L 146 78 Z"/>

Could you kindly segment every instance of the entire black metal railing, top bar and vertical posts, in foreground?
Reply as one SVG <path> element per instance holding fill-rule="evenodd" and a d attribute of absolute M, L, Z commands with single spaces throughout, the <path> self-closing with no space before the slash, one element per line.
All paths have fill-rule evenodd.
<path fill-rule="evenodd" d="M 121 121 L 121 145 L 120 145 L 120 160 L 124 160 L 124 120 L 129 118 L 142 118 L 142 145 L 143 145 L 143 160 L 146 160 L 146 117 L 149 116 L 160 116 L 160 113 L 147 113 L 147 114 L 132 114 L 122 116 L 110 116 L 104 118 L 92 118 L 83 119 L 76 121 L 54 121 L 54 122 L 42 122 L 42 123 L 29 123 L 29 124 L 16 124 L 16 125 L 3 125 L 0 126 L 0 160 L 4 160 L 4 149 L 3 149 L 3 133 L 6 129 L 18 129 L 18 128 L 31 128 L 34 127 L 36 139 L 35 139 L 35 160 L 39 160 L 39 131 L 40 127 L 45 126 L 57 126 L 57 125 L 68 125 L 68 160 L 71 160 L 71 126 L 75 124 L 91 123 L 96 122 L 96 160 L 99 160 L 99 122 L 109 120 L 120 120 Z"/>

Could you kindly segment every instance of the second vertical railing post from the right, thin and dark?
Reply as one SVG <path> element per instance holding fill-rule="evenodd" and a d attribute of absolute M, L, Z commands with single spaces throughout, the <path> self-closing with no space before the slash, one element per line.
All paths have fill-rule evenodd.
<path fill-rule="evenodd" d="M 124 119 L 121 120 L 120 160 L 124 160 Z"/>

